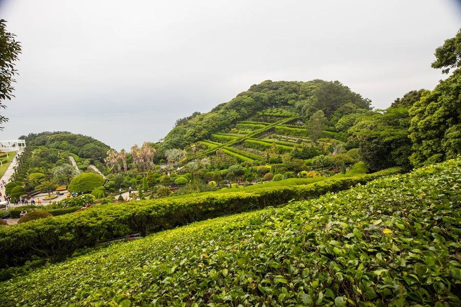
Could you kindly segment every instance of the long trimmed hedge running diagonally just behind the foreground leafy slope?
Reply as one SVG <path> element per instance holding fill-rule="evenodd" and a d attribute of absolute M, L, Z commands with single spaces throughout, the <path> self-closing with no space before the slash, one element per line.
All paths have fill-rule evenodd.
<path fill-rule="evenodd" d="M 293 199 L 311 199 L 397 172 L 400 172 L 399 168 L 301 186 L 109 204 L 74 214 L 0 227 L 0 266 L 12 266 L 37 256 L 71 256 L 76 249 L 93 246 L 98 240 L 134 232 L 146 235 L 207 218 L 279 206 Z"/>

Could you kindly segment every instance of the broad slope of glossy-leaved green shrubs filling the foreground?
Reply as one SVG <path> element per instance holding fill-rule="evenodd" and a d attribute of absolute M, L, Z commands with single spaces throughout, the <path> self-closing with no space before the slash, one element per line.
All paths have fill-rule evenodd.
<path fill-rule="evenodd" d="M 458 306 L 460 173 L 458 159 L 112 245 L 0 284 L 0 303 Z"/>

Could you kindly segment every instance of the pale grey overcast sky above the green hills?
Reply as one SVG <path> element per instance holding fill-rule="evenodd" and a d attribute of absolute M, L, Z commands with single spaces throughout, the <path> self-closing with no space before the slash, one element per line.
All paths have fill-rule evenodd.
<path fill-rule="evenodd" d="M 41 131 L 119 150 L 164 137 L 264 80 L 339 80 L 387 108 L 446 78 L 434 50 L 461 28 L 439 1 L 0 1 L 21 42 L 0 140 Z"/>

